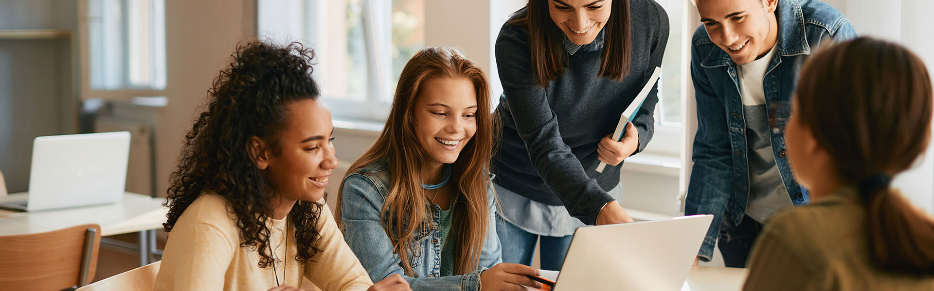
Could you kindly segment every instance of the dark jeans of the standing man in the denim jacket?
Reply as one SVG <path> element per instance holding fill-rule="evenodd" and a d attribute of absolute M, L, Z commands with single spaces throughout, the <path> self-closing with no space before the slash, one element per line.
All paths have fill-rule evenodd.
<path fill-rule="evenodd" d="M 745 268 L 749 251 L 756 243 L 759 231 L 762 231 L 762 224 L 749 215 L 743 215 L 743 221 L 736 226 L 729 217 L 731 215 L 724 215 L 720 223 L 720 241 L 717 244 L 720 255 L 723 255 L 723 263 L 727 267 Z"/>

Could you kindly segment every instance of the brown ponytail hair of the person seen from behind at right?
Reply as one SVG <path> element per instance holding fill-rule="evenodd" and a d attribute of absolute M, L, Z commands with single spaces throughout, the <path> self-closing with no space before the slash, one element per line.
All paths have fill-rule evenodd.
<path fill-rule="evenodd" d="M 884 270 L 934 275 L 934 221 L 887 181 L 930 140 L 934 94 L 924 63 L 897 44 L 857 38 L 822 49 L 801 72 L 795 118 L 840 176 L 860 185 L 873 260 Z"/>

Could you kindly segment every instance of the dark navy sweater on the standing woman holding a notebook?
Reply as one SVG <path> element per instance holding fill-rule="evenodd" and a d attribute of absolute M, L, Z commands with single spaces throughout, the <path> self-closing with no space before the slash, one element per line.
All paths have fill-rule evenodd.
<path fill-rule="evenodd" d="M 513 18 L 525 15 L 519 10 Z M 506 23 L 496 39 L 496 63 L 502 89 L 499 107 L 502 144 L 493 157 L 495 183 L 595 224 L 601 207 L 613 199 L 607 190 L 619 183 L 619 166 L 595 169 L 597 145 L 616 129 L 619 115 L 635 99 L 656 66 L 668 41 L 665 10 L 652 0 L 630 0 L 630 74 L 622 81 L 599 76 L 602 37 L 583 47 L 564 40 L 573 51 L 569 65 L 547 88 L 531 73 L 528 31 Z M 601 32 L 603 34 L 603 32 Z M 633 120 L 642 151 L 655 130 L 658 103 L 654 88 Z"/>

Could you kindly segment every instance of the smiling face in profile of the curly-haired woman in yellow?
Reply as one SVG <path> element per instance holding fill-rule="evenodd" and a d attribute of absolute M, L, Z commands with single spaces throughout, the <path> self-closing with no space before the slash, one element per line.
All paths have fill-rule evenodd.
<path fill-rule="evenodd" d="M 324 197 L 328 177 L 337 167 L 332 134 L 331 111 L 320 99 L 288 105 L 277 148 L 264 146 L 257 162 L 278 195 L 298 201 Z"/>

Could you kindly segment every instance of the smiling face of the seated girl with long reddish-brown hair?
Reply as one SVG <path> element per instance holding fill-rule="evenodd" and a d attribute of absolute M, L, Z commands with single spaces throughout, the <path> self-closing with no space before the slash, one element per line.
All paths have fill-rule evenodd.
<path fill-rule="evenodd" d="M 453 163 L 476 132 L 476 91 L 467 78 L 424 81 L 415 104 L 415 132 L 429 163 Z"/>

